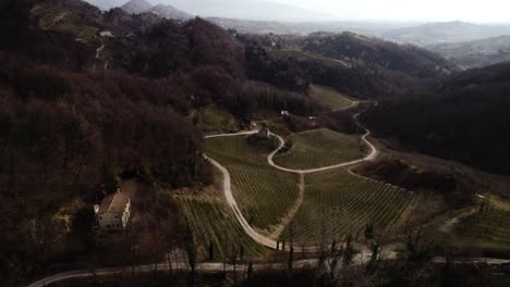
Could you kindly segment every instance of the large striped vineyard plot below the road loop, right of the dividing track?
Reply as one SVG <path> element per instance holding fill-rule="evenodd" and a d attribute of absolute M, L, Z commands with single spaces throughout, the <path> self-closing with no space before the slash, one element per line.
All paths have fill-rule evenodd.
<path fill-rule="evenodd" d="M 303 204 L 283 232 L 287 237 L 292 230 L 294 241 L 302 245 L 338 239 L 347 233 L 362 235 L 367 222 L 380 232 L 400 222 L 412 202 L 409 191 L 343 169 L 308 174 L 305 182 Z"/>

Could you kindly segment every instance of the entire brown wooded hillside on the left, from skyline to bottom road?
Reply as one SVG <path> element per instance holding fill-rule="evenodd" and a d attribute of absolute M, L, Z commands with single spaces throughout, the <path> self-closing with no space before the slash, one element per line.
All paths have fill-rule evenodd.
<path fill-rule="evenodd" d="M 287 101 L 295 114 L 320 109 L 248 85 L 243 46 L 201 18 L 16 0 L 0 2 L 0 33 L 1 286 L 24 286 L 57 262 L 127 264 L 121 254 L 134 241 L 150 261 L 162 254 L 159 236 L 179 246 L 184 213 L 161 190 L 210 183 L 197 111 L 218 107 L 238 128 Z M 143 225 L 119 240 L 92 228 L 92 207 L 116 176 L 144 185 L 133 202 Z"/>

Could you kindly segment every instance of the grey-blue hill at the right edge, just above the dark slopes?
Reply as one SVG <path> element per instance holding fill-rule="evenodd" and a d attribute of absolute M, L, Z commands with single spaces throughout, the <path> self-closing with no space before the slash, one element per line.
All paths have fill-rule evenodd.
<path fill-rule="evenodd" d="M 482 67 L 510 61 L 510 36 L 466 42 L 428 45 L 424 48 L 440 53 L 463 68 Z"/>

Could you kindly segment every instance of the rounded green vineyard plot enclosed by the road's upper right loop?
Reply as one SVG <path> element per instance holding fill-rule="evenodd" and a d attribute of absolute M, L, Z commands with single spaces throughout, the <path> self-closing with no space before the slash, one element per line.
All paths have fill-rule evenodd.
<path fill-rule="evenodd" d="M 364 155 L 359 137 L 320 128 L 291 135 L 292 148 L 274 158 L 276 164 L 288 169 L 315 169 L 361 159 Z"/>

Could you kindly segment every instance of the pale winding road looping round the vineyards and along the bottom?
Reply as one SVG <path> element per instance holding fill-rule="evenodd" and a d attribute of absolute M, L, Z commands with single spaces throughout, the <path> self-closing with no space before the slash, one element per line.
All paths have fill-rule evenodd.
<path fill-rule="evenodd" d="M 360 103 L 360 101 L 355 101 L 352 103 L 352 105 L 347 107 L 344 109 L 350 109 L 353 107 L 356 107 Z M 344 110 L 343 109 L 343 110 Z M 365 130 L 365 134 L 362 136 L 363 141 L 369 147 L 371 151 L 369 153 L 360 160 L 354 160 L 350 162 L 344 162 L 340 163 L 337 165 L 331 165 L 331 166 L 324 166 L 324 167 L 318 167 L 318 169 L 312 169 L 312 170 L 291 170 L 291 169 L 286 169 L 282 166 L 279 166 L 275 164 L 272 161 L 272 158 L 277 152 L 283 147 L 284 140 L 280 136 L 272 134 L 276 136 L 280 145 L 278 149 L 272 151 L 268 157 L 267 157 L 267 162 L 275 169 L 278 169 L 280 171 L 284 172 L 290 172 L 290 173 L 296 173 L 300 175 L 300 194 L 304 192 L 304 182 L 303 182 L 303 176 L 305 174 L 309 173 L 316 173 L 316 172 L 321 172 L 321 171 L 327 171 L 327 170 L 332 170 L 332 169 L 338 169 L 338 167 L 345 167 L 345 166 L 351 166 L 354 164 L 359 164 L 362 162 L 366 161 L 372 161 L 377 158 L 379 151 L 377 148 L 368 140 L 368 137 L 371 136 L 371 132 L 363 126 L 359 120 L 359 114 L 354 115 L 354 121 L 356 124 Z M 232 136 L 242 136 L 242 135 L 253 135 L 256 134 L 256 130 L 251 130 L 251 132 L 242 132 L 242 133 L 236 133 L 236 134 L 221 134 L 221 135 L 211 135 L 211 136 L 206 136 L 205 138 L 216 138 L 216 137 L 232 137 Z M 233 211 L 235 219 L 238 222 L 241 224 L 243 227 L 244 232 L 246 235 L 248 235 L 254 241 L 268 247 L 270 249 L 277 249 L 277 241 L 264 236 L 250 226 L 247 221 L 244 219 L 241 210 L 238 207 L 238 202 L 235 201 L 233 194 L 232 194 L 232 186 L 231 186 L 231 178 L 228 170 L 222 166 L 219 162 L 215 161 L 211 158 L 208 158 L 206 154 L 204 154 L 204 158 L 208 160 L 214 166 L 216 166 L 223 175 L 223 194 L 227 199 L 227 202 L 231 210 Z M 355 176 L 360 176 L 353 173 Z M 293 215 L 295 212 L 299 210 L 300 205 L 302 202 L 302 198 L 300 197 L 296 200 L 296 203 L 291 208 L 289 211 L 288 216 L 286 216 L 284 221 L 290 221 L 292 220 Z M 316 247 L 294 247 L 295 250 L 306 250 L 306 251 L 316 251 Z M 396 247 L 393 246 L 387 246 L 382 247 L 382 252 L 381 252 L 381 259 L 385 260 L 391 260 L 396 259 L 397 252 L 396 252 Z M 362 246 L 362 250 L 360 253 L 356 254 L 356 257 L 353 260 L 353 264 L 363 264 L 367 260 L 369 260 L 371 257 L 371 251 Z M 445 258 L 436 258 L 433 260 L 434 262 L 437 263 L 444 263 L 446 262 Z M 295 261 L 294 266 L 295 267 L 303 267 L 306 265 L 316 265 L 318 262 L 317 259 L 309 259 L 309 260 L 301 260 L 301 261 Z M 486 264 L 507 264 L 510 263 L 510 260 L 501 260 L 501 259 L 493 259 L 493 258 L 472 258 L 472 259 L 459 259 L 453 261 L 453 263 L 458 264 L 464 264 L 464 263 L 486 263 Z M 327 265 L 327 264 L 326 264 Z M 75 271 L 70 271 L 70 272 L 63 272 L 59 273 L 42 279 L 39 279 L 27 287 L 45 287 L 48 284 L 56 283 L 56 282 L 61 282 L 65 279 L 72 279 L 72 278 L 85 278 L 85 277 L 94 277 L 94 276 L 114 276 L 114 275 L 122 275 L 122 274 L 131 274 L 131 273 L 136 273 L 136 274 L 142 274 L 142 273 L 154 273 L 156 272 L 156 266 L 157 271 L 189 271 L 190 266 L 187 265 L 187 262 L 185 259 L 179 259 L 173 262 L 173 264 L 169 264 L 168 262 L 161 262 L 158 264 L 143 264 L 143 265 L 136 265 L 136 266 L 120 266 L 120 267 L 106 267 L 106 269 L 97 269 L 97 270 L 75 270 Z M 254 264 L 253 269 L 254 270 L 284 270 L 287 269 L 287 263 L 260 263 L 260 264 Z M 227 271 L 233 271 L 234 266 L 232 264 L 226 264 L 224 269 Z M 246 264 L 238 264 L 236 270 L 242 271 L 243 269 L 247 269 Z M 206 263 L 198 263 L 196 265 L 197 271 L 216 271 L 216 272 L 221 272 L 223 271 L 223 264 L 222 263 L 217 263 L 217 262 L 206 262 Z"/>

